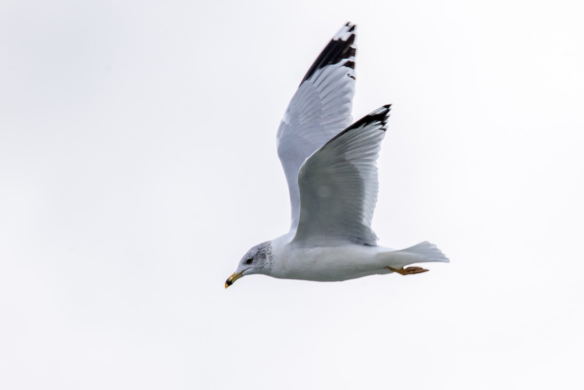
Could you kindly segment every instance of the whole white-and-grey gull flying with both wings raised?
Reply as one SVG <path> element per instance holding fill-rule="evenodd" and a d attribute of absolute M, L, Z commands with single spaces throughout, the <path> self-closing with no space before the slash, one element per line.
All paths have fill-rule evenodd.
<path fill-rule="evenodd" d="M 391 105 L 352 123 L 355 25 L 322 50 L 292 97 L 276 135 L 291 204 L 290 231 L 253 246 L 225 281 L 242 276 L 342 281 L 417 274 L 413 263 L 449 262 L 432 243 L 395 250 L 377 245 L 377 156 Z M 405 268 L 406 267 L 406 268 Z"/>

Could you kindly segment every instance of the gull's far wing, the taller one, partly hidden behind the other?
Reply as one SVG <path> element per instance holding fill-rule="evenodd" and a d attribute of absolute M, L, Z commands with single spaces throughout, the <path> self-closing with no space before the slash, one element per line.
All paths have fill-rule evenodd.
<path fill-rule="evenodd" d="M 347 23 L 322 50 L 290 100 L 278 128 L 276 144 L 290 192 L 291 230 L 300 217 L 298 169 L 352 121 L 355 27 Z"/>

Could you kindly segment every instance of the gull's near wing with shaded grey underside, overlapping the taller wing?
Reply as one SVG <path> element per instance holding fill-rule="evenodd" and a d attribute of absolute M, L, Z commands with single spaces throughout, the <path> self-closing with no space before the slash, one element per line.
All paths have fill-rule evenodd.
<path fill-rule="evenodd" d="M 314 152 L 298 173 L 300 221 L 294 241 L 307 246 L 376 245 L 377 156 L 390 106 L 363 117 Z"/>

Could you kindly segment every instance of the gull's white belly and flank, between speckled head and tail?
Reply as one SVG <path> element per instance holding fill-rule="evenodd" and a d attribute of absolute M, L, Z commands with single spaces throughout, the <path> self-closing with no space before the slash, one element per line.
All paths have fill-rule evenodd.
<path fill-rule="evenodd" d="M 340 281 L 381 273 L 378 247 L 346 245 L 311 249 L 291 248 L 271 276 L 286 279 Z"/>

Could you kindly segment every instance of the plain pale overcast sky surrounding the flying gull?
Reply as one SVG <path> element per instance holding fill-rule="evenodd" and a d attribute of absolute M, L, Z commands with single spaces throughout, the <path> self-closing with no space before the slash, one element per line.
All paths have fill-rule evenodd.
<path fill-rule="evenodd" d="M 583 388 L 577 4 L 3 1 L 0 387 Z M 374 230 L 451 263 L 225 290 L 347 20 L 354 119 L 394 104 Z"/>

